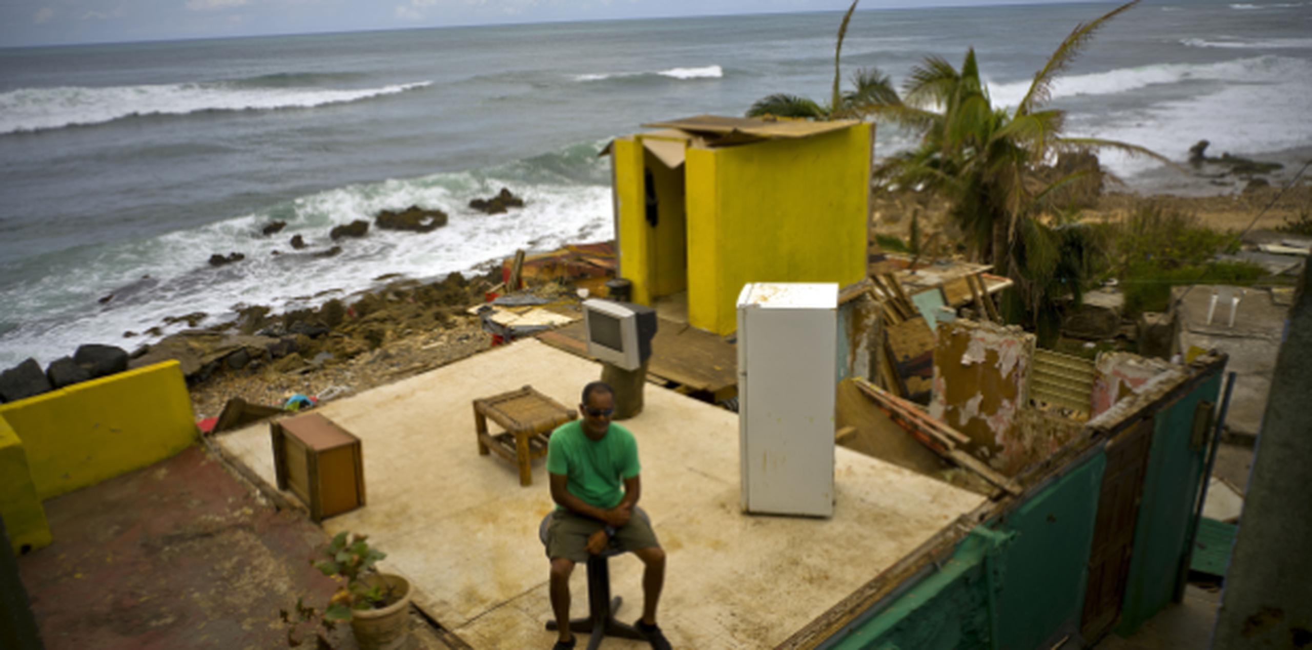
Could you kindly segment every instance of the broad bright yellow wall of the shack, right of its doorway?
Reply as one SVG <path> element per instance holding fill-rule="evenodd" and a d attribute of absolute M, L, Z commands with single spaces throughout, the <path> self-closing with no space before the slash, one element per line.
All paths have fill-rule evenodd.
<path fill-rule="evenodd" d="M 714 164 L 708 164 L 714 159 Z M 866 274 L 870 125 L 803 139 L 689 150 L 689 323 L 736 328 L 747 282 Z"/>

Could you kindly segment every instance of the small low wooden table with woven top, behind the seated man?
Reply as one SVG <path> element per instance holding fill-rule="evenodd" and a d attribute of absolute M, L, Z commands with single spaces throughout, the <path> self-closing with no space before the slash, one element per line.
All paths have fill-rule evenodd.
<path fill-rule="evenodd" d="M 488 433 L 488 418 L 505 432 Z M 474 427 L 479 441 L 479 456 L 496 452 L 497 456 L 520 466 L 520 485 L 533 485 L 534 458 L 547 456 L 547 436 L 556 427 L 577 419 L 579 411 L 523 386 L 474 401 Z"/>

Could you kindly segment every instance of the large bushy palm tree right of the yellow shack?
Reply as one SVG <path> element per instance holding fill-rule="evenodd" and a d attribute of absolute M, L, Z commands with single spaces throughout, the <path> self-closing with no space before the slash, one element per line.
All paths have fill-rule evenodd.
<path fill-rule="evenodd" d="M 1046 200 L 1054 190 L 1090 173 L 1080 171 L 1043 181 L 1038 172 L 1057 154 L 1115 148 L 1169 163 L 1135 144 L 1064 137 L 1065 112 L 1044 108 L 1057 74 L 1075 60 L 1094 32 L 1139 1 L 1077 25 L 1035 72 L 1025 98 L 1013 109 L 992 104 L 974 49 L 966 51 L 960 70 L 939 56 L 925 58 L 912 70 L 901 97 L 851 108 L 922 131 L 920 144 L 888 159 L 876 169 L 876 177 L 941 192 L 951 204 L 950 217 L 972 235 L 980 259 L 991 261 L 1000 274 L 1012 274 L 1021 222 L 1051 209 Z"/>

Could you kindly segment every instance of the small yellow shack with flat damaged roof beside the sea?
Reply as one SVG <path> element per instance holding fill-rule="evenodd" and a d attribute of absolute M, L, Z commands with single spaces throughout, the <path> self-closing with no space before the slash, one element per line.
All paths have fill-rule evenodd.
<path fill-rule="evenodd" d="M 618 138 L 619 276 L 632 299 L 714 334 L 747 282 L 866 274 L 871 127 L 699 116 Z"/>

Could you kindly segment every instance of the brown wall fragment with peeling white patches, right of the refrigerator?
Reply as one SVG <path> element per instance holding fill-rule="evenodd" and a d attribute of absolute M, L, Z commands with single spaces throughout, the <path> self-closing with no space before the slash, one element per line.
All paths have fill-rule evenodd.
<path fill-rule="evenodd" d="M 967 450 L 1014 473 L 1029 457 L 1014 424 L 1025 406 L 1034 335 L 1018 327 L 955 320 L 938 330 L 929 414 L 966 433 Z"/>

